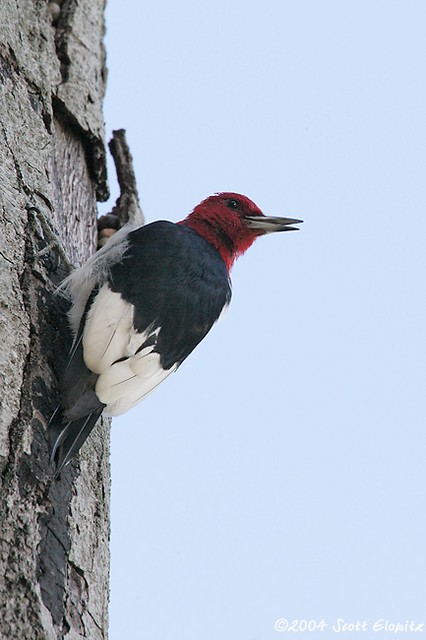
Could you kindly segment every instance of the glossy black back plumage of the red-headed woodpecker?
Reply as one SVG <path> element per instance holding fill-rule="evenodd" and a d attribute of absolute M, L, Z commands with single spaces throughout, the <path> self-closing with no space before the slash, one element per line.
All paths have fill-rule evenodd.
<path fill-rule="evenodd" d="M 137 331 L 161 327 L 156 351 L 169 369 L 189 356 L 229 303 L 228 271 L 216 249 L 184 225 L 153 222 L 128 241 L 109 284 L 134 305 Z"/>

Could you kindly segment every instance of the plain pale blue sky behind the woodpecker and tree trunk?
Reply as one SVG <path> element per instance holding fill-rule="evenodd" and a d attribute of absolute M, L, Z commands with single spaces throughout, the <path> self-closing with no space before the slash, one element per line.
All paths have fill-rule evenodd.
<path fill-rule="evenodd" d="M 107 132 L 147 221 L 224 190 L 305 221 L 114 420 L 111 640 L 426 623 L 425 23 L 415 0 L 109 0 Z"/>

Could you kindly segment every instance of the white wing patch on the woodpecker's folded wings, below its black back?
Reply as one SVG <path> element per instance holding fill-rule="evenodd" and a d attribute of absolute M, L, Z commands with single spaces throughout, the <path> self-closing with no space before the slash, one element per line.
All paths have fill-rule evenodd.
<path fill-rule="evenodd" d="M 107 284 L 87 314 L 84 361 L 91 371 L 100 374 L 96 395 L 112 416 L 133 407 L 177 368 L 163 369 L 159 354 L 154 353 L 155 343 L 138 351 L 149 337 L 158 336 L 160 327 L 138 333 L 133 314 L 133 305 Z"/>

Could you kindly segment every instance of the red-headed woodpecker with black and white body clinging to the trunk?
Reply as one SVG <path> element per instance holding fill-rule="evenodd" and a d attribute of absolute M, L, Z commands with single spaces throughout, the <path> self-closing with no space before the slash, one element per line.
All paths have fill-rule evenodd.
<path fill-rule="evenodd" d="M 302 220 L 217 193 L 182 221 L 126 224 L 61 285 L 74 336 L 49 424 L 55 477 L 102 413 L 125 413 L 176 371 L 231 300 L 235 260 Z"/>

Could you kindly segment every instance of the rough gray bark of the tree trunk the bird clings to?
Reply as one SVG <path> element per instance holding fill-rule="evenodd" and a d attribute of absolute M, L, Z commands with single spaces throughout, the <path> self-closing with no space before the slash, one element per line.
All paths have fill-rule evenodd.
<path fill-rule="evenodd" d="M 97 640 L 108 626 L 109 425 L 59 481 L 48 462 L 70 340 L 53 291 L 95 250 L 107 197 L 104 0 L 58 5 L 0 4 L 2 639 Z"/>

